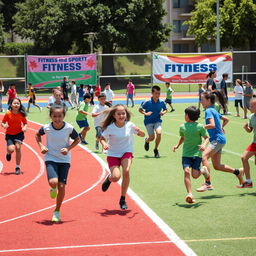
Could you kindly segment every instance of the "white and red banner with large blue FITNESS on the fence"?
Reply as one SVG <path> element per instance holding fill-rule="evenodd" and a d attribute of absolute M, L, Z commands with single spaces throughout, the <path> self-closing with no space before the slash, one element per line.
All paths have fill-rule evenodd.
<path fill-rule="evenodd" d="M 216 71 L 216 82 L 228 73 L 232 82 L 232 52 L 168 54 L 153 53 L 153 82 L 194 84 L 205 83 L 207 74 Z"/>

